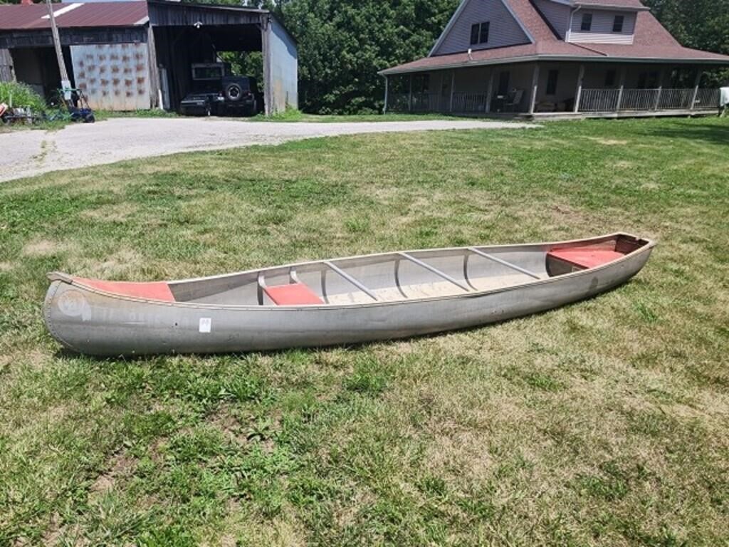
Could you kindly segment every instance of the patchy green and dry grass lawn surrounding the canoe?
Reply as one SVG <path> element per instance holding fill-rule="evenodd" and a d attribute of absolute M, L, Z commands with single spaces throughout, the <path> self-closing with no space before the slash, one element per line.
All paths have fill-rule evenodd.
<path fill-rule="evenodd" d="M 351 136 L 0 185 L 0 545 L 717 546 L 729 120 Z M 353 348 L 61 352 L 51 270 L 204 276 L 390 249 L 657 238 L 632 282 Z"/>

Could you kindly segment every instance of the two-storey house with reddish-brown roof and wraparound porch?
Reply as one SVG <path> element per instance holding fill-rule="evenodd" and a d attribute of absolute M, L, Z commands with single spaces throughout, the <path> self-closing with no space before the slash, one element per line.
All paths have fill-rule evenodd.
<path fill-rule="evenodd" d="M 380 74 L 386 110 L 620 117 L 717 112 L 717 66 L 639 0 L 462 0 L 427 57 Z"/>

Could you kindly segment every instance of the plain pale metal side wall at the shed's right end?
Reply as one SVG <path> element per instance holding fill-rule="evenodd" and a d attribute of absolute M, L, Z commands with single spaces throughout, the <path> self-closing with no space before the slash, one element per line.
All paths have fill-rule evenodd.
<path fill-rule="evenodd" d="M 286 106 L 299 107 L 298 95 L 298 53 L 296 44 L 281 23 L 274 18 L 268 24 L 267 39 L 264 40 L 267 51 L 264 52 L 265 63 L 268 64 L 268 82 L 266 97 L 270 104 L 267 112 L 282 112 Z"/>

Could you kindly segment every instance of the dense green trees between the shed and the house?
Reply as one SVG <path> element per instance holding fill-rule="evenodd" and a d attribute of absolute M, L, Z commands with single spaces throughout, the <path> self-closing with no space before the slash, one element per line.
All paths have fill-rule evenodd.
<path fill-rule="evenodd" d="M 426 55 L 458 0 L 290 0 L 280 6 L 298 41 L 299 103 L 311 112 L 381 109 L 377 74 Z"/>

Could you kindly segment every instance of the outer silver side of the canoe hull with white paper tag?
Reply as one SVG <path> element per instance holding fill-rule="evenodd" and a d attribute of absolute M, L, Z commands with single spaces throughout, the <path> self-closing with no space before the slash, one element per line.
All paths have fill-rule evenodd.
<path fill-rule="evenodd" d="M 63 280 L 44 303 L 50 333 L 99 356 L 221 353 L 359 344 L 501 322 L 623 284 L 652 245 L 594 270 L 486 292 L 358 306 L 217 306 L 118 298 Z"/>

